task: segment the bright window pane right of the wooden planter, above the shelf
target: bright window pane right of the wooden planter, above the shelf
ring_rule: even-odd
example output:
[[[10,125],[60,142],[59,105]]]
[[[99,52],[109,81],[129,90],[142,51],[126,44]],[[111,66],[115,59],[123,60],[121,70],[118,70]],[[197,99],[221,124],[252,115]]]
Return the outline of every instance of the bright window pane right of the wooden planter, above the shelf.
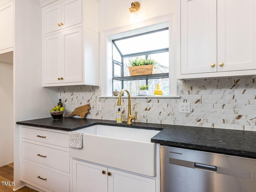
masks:
[[[152,58],[158,62],[155,73],[169,72],[169,52],[149,54],[148,58]]]

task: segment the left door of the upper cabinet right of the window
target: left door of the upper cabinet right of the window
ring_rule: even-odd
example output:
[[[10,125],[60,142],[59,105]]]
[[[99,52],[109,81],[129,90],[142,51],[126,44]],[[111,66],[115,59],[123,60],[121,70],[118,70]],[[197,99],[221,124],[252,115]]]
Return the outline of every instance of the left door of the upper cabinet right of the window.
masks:
[[[181,0],[181,74],[216,72],[216,0]]]

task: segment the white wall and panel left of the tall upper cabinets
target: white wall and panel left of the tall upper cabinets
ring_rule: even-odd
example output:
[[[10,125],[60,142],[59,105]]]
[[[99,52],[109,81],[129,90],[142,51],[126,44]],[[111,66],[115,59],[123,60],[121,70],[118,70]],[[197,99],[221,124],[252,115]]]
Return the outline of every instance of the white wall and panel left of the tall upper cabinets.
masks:
[[[42,10],[34,0],[14,0],[14,188],[20,181],[20,129],[17,121],[50,117],[56,88],[42,87]]]

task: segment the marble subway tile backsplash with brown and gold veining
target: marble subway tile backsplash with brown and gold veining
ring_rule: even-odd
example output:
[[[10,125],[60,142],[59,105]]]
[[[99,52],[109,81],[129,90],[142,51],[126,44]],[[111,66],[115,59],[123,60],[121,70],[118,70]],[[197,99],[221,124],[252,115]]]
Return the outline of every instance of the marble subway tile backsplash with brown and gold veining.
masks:
[[[180,98],[132,98],[136,122],[175,124],[256,131],[256,79],[220,78],[178,81]],[[90,103],[86,118],[116,120],[117,98],[99,98],[98,86],[64,86],[59,98],[68,116],[76,107]],[[101,102],[102,110],[96,109]],[[178,112],[180,102],[190,102],[191,113]],[[123,120],[127,120],[128,100],[122,99]]]

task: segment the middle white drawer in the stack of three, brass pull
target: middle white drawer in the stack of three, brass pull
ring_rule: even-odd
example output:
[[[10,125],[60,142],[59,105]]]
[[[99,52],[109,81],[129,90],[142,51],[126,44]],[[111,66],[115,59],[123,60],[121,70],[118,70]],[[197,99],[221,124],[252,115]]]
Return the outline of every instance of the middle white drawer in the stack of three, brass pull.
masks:
[[[69,153],[22,142],[22,158],[69,173]]]

